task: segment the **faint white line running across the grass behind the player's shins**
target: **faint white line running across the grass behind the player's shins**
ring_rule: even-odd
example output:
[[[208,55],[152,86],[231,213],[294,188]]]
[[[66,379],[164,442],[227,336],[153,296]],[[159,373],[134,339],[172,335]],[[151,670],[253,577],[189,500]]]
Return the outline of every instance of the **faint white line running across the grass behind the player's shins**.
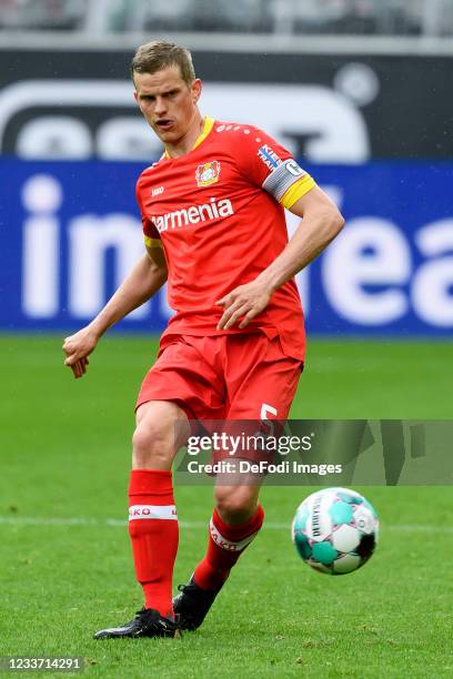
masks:
[[[33,516],[0,516],[0,525],[3,526],[111,526],[124,528],[128,525],[127,520],[107,518],[94,519],[84,517],[33,517]],[[208,529],[207,521],[184,521],[180,520],[181,528]],[[291,521],[264,521],[264,528],[268,530],[289,530]],[[435,533],[435,534],[453,534],[452,526],[429,526],[426,524],[393,524],[382,525],[381,528],[395,533]]]

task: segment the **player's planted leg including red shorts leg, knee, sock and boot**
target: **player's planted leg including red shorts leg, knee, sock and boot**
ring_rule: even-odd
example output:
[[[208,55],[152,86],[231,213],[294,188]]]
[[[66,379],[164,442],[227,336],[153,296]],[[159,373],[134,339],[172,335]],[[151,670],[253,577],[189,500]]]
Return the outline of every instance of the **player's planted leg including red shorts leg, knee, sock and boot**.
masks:
[[[223,413],[222,385],[208,359],[210,338],[202,342],[201,348],[192,346],[190,337],[161,342],[159,358],[142,383],[133,435],[129,530],[145,608],[129,625],[101,630],[97,638],[174,636],[168,618],[178,548],[171,464],[188,435],[188,415],[207,417],[207,403],[212,418]]]

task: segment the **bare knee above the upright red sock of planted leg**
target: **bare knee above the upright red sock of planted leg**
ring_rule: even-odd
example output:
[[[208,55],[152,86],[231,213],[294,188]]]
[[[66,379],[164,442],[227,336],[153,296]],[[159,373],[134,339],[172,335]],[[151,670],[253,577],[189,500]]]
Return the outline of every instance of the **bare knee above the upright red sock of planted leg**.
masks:
[[[174,445],[167,426],[141,422],[132,436],[132,466],[134,469],[170,469]]]

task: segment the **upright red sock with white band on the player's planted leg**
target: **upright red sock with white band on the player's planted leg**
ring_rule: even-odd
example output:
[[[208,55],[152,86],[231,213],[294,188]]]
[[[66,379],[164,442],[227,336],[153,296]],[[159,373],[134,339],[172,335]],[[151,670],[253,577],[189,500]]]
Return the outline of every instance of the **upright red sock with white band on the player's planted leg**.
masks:
[[[173,616],[172,576],[179,533],[171,472],[131,472],[129,535],[145,608]]]

